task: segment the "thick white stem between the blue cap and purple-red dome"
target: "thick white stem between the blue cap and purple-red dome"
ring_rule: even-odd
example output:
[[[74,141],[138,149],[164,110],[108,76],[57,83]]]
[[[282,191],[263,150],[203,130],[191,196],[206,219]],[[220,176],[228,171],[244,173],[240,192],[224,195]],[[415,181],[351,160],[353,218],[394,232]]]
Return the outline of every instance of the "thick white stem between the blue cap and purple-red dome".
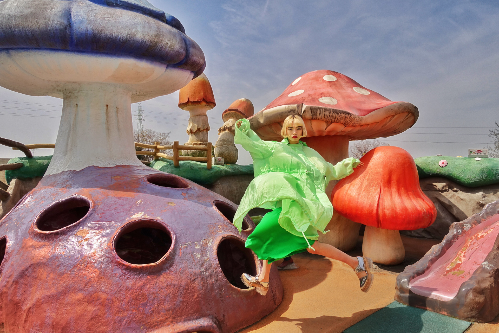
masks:
[[[135,155],[130,95],[119,84],[65,84],[54,155],[46,175],[90,165],[142,166]]]

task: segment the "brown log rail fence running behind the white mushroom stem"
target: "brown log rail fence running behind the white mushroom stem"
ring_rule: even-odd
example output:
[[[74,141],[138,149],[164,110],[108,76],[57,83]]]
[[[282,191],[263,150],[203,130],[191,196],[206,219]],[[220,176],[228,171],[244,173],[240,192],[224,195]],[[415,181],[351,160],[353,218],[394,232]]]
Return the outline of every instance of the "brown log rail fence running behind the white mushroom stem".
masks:
[[[207,142],[206,146],[184,146],[179,145],[178,141],[173,141],[173,144],[160,146],[161,142],[154,142],[153,145],[135,142],[135,147],[154,149],[154,151],[145,151],[145,150],[136,150],[136,155],[152,155],[154,159],[157,160],[160,157],[169,159],[173,161],[173,165],[175,167],[179,167],[179,161],[197,161],[197,162],[206,162],[206,168],[212,168],[212,143]],[[38,143],[38,144],[30,144],[25,145],[27,149],[39,149],[39,148],[55,148],[55,144],[53,143]],[[13,147],[12,149],[18,150],[19,148]],[[173,155],[167,155],[160,153],[160,150],[163,149],[172,149]],[[206,151],[206,157],[197,157],[197,156],[179,156],[179,150],[201,150]],[[142,161],[142,163],[149,165],[149,163]]]

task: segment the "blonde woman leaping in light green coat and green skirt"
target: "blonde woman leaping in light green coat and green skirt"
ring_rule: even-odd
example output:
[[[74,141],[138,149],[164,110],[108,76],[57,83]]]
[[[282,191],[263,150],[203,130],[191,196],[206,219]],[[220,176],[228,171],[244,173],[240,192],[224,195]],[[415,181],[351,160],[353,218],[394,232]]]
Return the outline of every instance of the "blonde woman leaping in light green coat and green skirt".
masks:
[[[354,258],[317,241],[317,231],[326,233],[324,228],[333,215],[333,206],[324,192],[327,184],[350,175],[353,168],[363,164],[350,157],[333,166],[300,141],[306,135],[303,119],[297,115],[284,120],[281,142],[262,141],[250,129],[248,119],[236,123],[234,142],[250,152],[255,178],[241,199],[234,224],[241,231],[243,218],[250,209],[272,209],[246,241],[246,247],[263,260],[261,272],[255,277],[245,273],[241,280],[265,295],[271,263],[306,250],[352,267],[361,290],[367,292],[373,281],[371,259]]]

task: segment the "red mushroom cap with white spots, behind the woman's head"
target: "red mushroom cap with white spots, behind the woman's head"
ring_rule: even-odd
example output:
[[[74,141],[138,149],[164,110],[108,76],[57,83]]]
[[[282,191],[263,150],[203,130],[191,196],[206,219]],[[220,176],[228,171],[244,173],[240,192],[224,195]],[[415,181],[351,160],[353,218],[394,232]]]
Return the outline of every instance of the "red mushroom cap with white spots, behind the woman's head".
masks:
[[[250,119],[264,140],[281,140],[282,122],[290,114],[305,121],[307,137],[347,135],[349,140],[399,134],[418,119],[418,108],[394,102],[332,70],[316,70],[295,79],[274,101]]]

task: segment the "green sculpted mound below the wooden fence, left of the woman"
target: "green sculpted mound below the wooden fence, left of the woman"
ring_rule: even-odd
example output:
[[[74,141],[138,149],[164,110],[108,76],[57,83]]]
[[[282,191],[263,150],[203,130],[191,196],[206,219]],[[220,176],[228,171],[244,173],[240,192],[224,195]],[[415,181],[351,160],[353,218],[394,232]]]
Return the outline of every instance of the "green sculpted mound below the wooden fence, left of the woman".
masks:
[[[211,170],[206,168],[206,163],[194,161],[180,161],[178,168],[173,166],[173,161],[160,158],[151,162],[150,167],[192,180],[200,185],[213,184],[223,176],[252,175],[253,165],[225,164],[212,165]]]

